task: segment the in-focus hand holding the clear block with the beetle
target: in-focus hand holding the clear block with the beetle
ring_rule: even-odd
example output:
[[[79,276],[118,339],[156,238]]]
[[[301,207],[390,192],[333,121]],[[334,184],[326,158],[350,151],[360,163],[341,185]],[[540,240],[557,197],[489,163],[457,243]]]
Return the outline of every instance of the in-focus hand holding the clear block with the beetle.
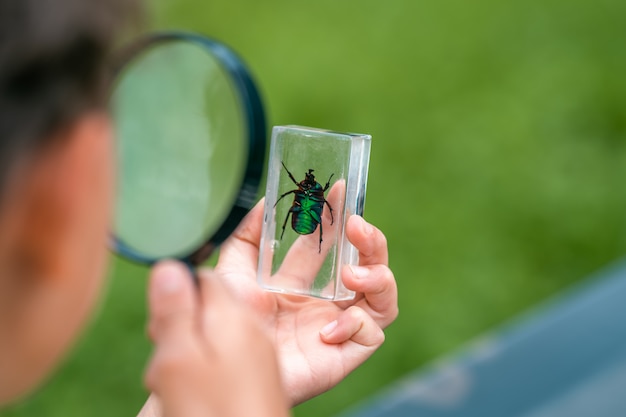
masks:
[[[345,267],[342,277],[357,292],[355,300],[332,303],[265,292],[256,283],[262,216],[263,201],[222,246],[215,272],[265,320],[295,405],[336,385],[383,343],[382,329],[398,314],[396,282],[387,266],[385,236],[352,216],[346,233],[359,250],[360,266]],[[302,270],[308,260],[303,256],[292,263]]]

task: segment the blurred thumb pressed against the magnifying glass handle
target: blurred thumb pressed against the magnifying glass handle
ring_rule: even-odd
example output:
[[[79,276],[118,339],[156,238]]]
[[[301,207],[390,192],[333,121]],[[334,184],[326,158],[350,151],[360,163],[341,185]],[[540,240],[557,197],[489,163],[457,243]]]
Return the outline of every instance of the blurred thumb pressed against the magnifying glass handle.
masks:
[[[149,333],[157,345],[192,342],[198,326],[198,295],[187,267],[179,262],[157,264],[148,289]]]

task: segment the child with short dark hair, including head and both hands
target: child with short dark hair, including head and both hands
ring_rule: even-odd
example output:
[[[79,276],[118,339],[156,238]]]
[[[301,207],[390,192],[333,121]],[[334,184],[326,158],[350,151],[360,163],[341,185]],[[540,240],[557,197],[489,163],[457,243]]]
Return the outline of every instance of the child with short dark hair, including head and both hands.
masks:
[[[0,406],[37,386],[101,289],[112,205],[106,66],[129,0],[0,0]],[[285,297],[255,283],[262,206],[225,243],[199,294],[176,262],[150,279],[144,416],[286,416],[383,342],[397,290],[380,231],[347,234],[361,266],[349,303]]]

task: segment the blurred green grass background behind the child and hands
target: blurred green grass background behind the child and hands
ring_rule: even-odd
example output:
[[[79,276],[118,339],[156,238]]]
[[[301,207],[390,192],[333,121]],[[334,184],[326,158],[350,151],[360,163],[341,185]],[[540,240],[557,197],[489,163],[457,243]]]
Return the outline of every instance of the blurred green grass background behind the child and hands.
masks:
[[[389,240],[387,342],[295,410],[333,415],[626,251],[626,2],[160,0],[154,28],[227,42],[271,125],[374,137],[366,217]],[[133,415],[146,271],[113,262],[100,314],[8,416]]]

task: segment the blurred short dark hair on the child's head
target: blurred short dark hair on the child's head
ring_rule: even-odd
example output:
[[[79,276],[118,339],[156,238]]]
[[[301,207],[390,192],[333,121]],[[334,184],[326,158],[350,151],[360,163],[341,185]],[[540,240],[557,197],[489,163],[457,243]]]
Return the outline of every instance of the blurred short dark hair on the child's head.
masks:
[[[14,162],[105,106],[114,42],[132,0],[0,0],[0,189]]]

